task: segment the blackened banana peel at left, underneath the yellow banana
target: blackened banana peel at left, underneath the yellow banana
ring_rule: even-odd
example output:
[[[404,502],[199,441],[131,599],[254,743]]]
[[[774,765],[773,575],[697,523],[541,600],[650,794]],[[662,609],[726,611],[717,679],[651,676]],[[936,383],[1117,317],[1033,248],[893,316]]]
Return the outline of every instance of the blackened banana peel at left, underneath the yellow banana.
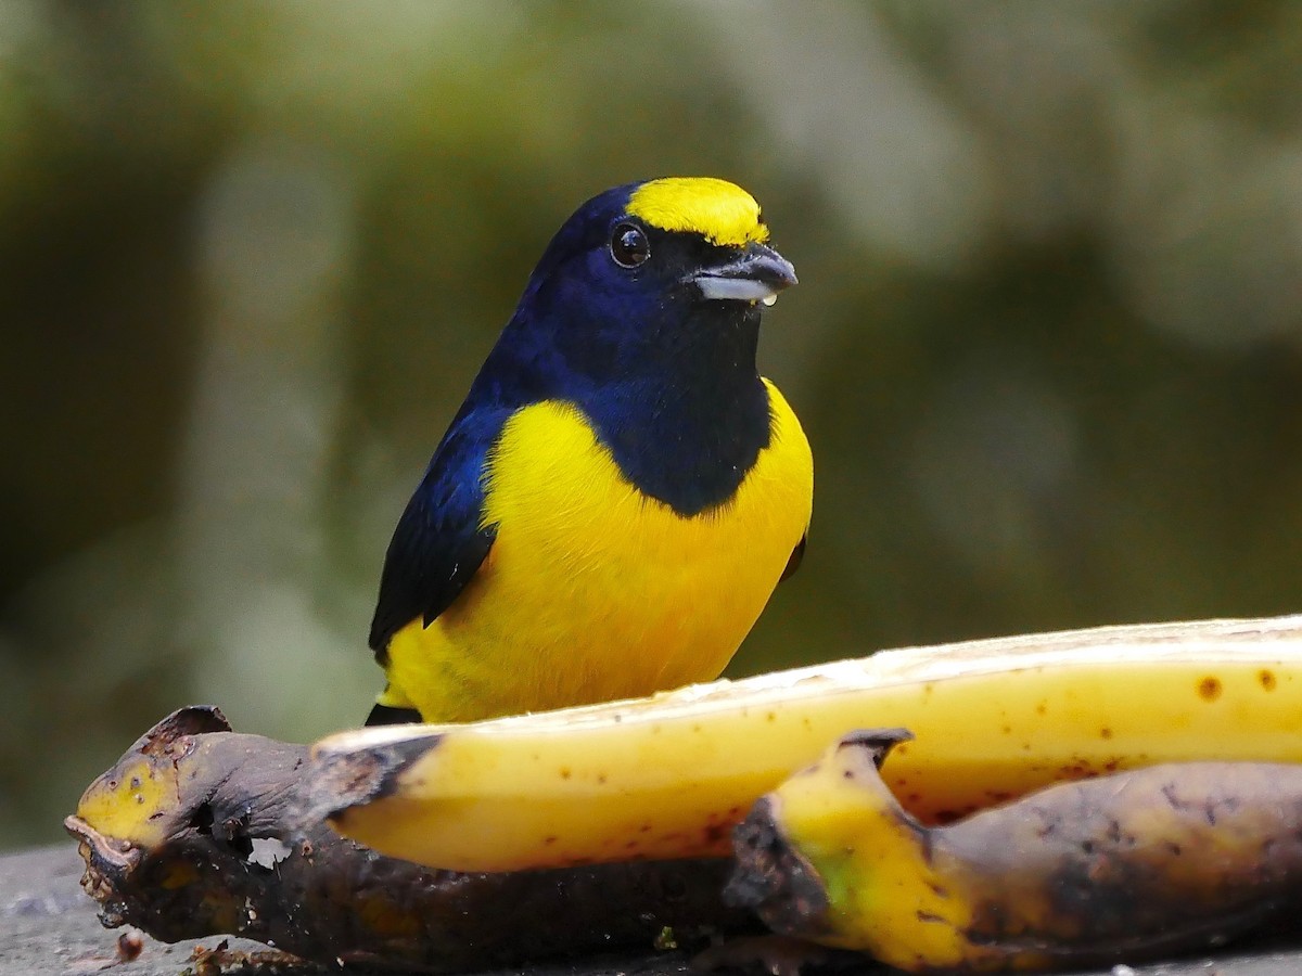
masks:
[[[164,942],[253,938],[326,964],[454,972],[754,930],[719,898],[727,860],[470,874],[341,839],[306,813],[307,747],[184,708],[66,821],[107,927]]]

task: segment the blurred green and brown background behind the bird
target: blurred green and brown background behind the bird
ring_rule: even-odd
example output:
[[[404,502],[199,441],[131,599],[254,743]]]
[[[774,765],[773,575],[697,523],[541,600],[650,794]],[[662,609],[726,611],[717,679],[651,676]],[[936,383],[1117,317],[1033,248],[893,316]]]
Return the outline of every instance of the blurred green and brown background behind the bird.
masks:
[[[1302,5],[0,4],[0,846],[154,721],[366,714],[565,216],[717,174],[818,465],[733,673],[1302,608]]]

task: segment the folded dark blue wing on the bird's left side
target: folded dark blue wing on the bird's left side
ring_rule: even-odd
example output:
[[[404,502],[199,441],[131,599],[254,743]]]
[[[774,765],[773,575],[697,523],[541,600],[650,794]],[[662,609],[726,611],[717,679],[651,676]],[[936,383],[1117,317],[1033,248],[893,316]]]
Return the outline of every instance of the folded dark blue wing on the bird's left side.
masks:
[[[389,639],[418,617],[428,626],[457,599],[496,537],[482,528],[483,467],[509,410],[458,415],[393,531],[370,645],[387,662]]]

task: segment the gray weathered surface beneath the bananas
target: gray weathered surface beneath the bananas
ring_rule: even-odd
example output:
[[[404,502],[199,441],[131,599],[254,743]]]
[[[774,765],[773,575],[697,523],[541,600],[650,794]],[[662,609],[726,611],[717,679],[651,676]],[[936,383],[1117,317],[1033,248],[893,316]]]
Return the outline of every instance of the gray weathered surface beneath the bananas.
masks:
[[[0,976],[178,976],[191,968],[195,946],[214,947],[221,940],[202,938],[176,945],[143,940],[143,950],[130,962],[120,962],[121,929],[99,924],[95,903],[81,890],[81,859],[72,845],[43,847],[0,856]],[[230,949],[255,951],[256,942],[230,940]],[[865,963],[863,971],[876,967]],[[227,973],[272,972],[266,968],[227,969]],[[279,967],[275,972],[286,972]],[[370,972],[357,967],[323,969],[294,967],[293,973],[340,976]],[[525,973],[526,971],[512,971]],[[686,972],[682,955],[665,953],[638,958],[600,959],[583,963],[536,967],[527,976],[678,976]],[[1124,973],[1125,969],[1117,971]],[[1134,967],[1135,976],[1299,976],[1302,950],[1294,940],[1286,945],[1246,946],[1234,954],[1193,958],[1174,963]],[[1109,976],[1105,971],[1094,976]]]

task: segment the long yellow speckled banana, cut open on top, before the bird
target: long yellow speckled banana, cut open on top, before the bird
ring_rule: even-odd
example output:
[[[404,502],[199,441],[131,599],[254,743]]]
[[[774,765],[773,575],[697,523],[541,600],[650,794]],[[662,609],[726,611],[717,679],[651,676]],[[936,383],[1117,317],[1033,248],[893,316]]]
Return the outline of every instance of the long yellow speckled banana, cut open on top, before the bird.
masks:
[[[1116,769],[1302,761],[1302,617],[884,651],[634,701],[342,733],[314,748],[314,811],[457,871],[727,856],[756,798],[868,726],[918,735],[883,776],[928,824]]]

